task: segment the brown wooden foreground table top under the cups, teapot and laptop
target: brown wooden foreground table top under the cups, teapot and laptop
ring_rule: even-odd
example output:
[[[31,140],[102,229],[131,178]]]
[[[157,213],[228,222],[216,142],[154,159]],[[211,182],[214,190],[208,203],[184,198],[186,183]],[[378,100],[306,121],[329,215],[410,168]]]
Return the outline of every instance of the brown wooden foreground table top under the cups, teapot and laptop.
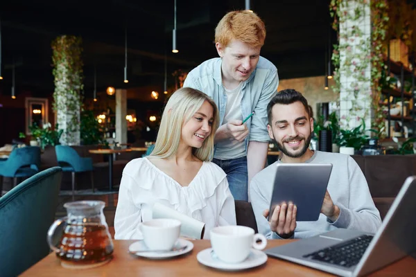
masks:
[[[193,250],[183,256],[169,260],[148,260],[128,253],[128,246],[134,240],[114,240],[114,258],[108,264],[94,269],[65,269],[55,253],[49,254],[36,265],[26,270],[22,276],[331,276],[330,274],[303,267],[284,260],[268,258],[266,264],[247,271],[227,272],[201,265],[196,255],[211,247],[209,240],[193,240]],[[269,240],[268,247],[276,247],[290,240]],[[416,261],[406,257],[372,276],[414,276]],[[410,275],[409,275],[410,274]]]

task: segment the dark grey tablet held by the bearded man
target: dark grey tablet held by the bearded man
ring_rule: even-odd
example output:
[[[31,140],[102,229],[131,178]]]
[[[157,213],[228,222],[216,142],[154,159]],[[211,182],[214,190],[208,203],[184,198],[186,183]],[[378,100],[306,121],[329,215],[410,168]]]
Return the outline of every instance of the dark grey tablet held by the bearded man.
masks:
[[[269,220],[283,202],[297,206],[296,221],[318,220],[331,170],[331,163],[278,163]]]

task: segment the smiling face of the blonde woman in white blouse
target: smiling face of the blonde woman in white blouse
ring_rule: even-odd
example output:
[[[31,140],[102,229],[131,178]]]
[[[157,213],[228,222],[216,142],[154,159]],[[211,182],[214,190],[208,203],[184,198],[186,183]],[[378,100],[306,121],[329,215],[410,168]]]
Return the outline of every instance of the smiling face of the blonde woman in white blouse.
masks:
[[[180,143],[193,148],[201,148],[202,143],[211,134],[214,108],[204,101],[191,119],[182,125]]]

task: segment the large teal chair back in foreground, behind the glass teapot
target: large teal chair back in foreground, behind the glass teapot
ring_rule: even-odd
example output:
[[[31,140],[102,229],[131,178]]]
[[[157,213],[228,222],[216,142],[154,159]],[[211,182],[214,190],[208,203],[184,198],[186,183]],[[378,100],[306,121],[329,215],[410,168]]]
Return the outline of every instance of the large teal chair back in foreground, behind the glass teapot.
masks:
[[[17,276],[49,254],[62,168],[46,169],[0,197],[0,276]]]

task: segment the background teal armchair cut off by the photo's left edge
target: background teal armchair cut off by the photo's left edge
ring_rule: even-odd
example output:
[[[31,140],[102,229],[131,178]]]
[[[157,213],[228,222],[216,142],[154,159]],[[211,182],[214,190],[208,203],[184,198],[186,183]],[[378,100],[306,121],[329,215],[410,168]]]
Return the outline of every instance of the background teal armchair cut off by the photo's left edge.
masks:
[[[0,195],[3,188],[1,177],[13,178],[13,186],[18,177],[31,177],[39,172],[40,148],[35,146],[15,148],[8,159],[0,161]]]

